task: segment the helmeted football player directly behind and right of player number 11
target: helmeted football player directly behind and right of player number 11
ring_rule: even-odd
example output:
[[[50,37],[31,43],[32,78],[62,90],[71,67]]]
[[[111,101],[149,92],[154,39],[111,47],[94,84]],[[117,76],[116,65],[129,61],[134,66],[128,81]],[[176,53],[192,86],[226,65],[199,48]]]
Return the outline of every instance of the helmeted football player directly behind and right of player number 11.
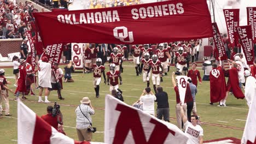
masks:
[[[162,74],[165,73],[165,75],[167,75],[167,68],[168,68],[167,63],[170,64],[171,56],[170,56],[170,53],[168,52],[168,50],[164,49],[164,44],[159,44],[158,47],[159,47],[159,49],[155,50],[155,53],[158,56],[158,59],[161,62],[162,67],[164,68],[164,69],[160,69],[160,79],[162,82],[163,81]],[[169,59],[168,62],[167,62],[167,59]]]

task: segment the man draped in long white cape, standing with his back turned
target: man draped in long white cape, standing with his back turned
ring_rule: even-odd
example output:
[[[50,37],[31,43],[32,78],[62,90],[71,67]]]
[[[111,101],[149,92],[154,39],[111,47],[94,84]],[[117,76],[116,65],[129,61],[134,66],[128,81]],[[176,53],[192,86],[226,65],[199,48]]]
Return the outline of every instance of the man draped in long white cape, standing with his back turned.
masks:
[[[38,102],[45,102],[45,103],[50,103],[48,100],[48,95],[49,95],[49,89],[51,88],[51,64],[48,63],[48,58],[47,57],[42,57],[38,61],[38,84],[40,87],[39,91],[39,100]],[[44,95],[45,95],[45,101],[42,100],[42,94],[44,90]]]

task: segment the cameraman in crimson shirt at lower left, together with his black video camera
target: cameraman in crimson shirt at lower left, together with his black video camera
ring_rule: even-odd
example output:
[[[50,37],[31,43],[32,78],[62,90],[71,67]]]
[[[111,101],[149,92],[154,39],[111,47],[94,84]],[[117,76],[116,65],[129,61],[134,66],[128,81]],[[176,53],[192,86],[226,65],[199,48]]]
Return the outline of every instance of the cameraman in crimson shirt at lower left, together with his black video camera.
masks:
[[[51,126],[53,126],[56,130],[58,130],[58,124],[60,124],[60,125],[63,124],[60,106],[57,105],[55,102],[54,107],[49,105],[49,106],[47,106],[46,110],[47,110],[47,114],[41,116],[41,118],[44,119],[45,122],[47,122]]]

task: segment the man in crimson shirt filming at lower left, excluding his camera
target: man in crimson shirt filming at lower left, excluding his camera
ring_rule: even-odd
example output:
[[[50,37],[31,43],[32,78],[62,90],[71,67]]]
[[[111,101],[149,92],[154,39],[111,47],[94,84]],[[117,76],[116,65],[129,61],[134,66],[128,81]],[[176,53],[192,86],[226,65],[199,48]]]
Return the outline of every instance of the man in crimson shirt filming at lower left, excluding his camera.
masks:
[[[58,124],[62,123],[62,113],[59,112],[57,116],[53,116],[53,106],[49,105],[47,106],[47,114],[41,116],[42,119],[44,119],[45,122],[50,124],[52,127],[54,127],[56,130],[58,130]]]

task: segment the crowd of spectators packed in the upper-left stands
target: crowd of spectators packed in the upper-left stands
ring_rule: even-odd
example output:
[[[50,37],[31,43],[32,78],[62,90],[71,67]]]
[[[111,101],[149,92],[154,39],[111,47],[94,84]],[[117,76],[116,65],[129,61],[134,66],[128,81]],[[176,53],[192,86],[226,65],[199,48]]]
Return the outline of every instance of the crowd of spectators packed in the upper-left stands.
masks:
[[[13,3],[0,0],[0,38],[13,39],[24,37],[25,31],[36,31],[32,13],[38,12],[32,2]]]

